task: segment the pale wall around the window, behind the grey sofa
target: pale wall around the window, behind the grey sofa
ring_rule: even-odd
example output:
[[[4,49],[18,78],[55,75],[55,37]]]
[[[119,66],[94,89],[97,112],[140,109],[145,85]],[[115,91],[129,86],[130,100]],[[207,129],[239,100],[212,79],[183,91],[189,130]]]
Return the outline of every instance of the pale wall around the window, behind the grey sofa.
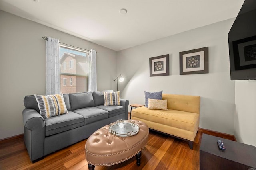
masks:
[[[45,94],[43,36],[95,49],[98,90],[116,88],[116,51],[0,10],[0,139],[23,133],[24,96]]]

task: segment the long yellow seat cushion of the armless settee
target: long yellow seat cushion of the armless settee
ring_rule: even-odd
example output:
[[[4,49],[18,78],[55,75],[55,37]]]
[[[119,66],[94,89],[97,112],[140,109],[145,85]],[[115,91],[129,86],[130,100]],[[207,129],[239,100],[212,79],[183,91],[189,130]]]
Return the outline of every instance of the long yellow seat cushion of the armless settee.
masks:
[[[179,110],[148,110],[146,107],[138,107],[132,110],[132,116],[156,122],[162,125],[194,131],[199,121],[199,114]]]

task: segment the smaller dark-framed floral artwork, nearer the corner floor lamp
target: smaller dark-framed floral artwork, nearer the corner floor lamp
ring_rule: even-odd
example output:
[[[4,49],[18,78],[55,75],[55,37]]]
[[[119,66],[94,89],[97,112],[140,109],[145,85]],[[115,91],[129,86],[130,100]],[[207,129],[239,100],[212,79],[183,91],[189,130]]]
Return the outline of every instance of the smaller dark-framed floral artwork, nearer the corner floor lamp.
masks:
[[[149,76],[169,76],[169,54],[149,58]]]

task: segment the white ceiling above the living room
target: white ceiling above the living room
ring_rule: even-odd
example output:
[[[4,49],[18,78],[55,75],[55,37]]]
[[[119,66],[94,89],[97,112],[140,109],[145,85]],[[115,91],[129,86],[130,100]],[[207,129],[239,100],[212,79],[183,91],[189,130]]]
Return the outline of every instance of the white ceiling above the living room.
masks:
[[[234,18],[243,2],[244,0],[0,0],[0,10],[120,51]],[[120,14],[121,8],[128,12]]]

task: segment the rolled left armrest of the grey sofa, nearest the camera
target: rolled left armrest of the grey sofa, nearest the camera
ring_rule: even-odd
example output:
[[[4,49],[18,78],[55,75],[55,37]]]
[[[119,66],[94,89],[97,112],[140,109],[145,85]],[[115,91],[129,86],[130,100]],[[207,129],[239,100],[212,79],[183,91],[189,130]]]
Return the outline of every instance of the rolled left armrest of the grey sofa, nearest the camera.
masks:
[[[35,109],[24,109],[24,142],[32,162],[44,156],[45,122]]]

